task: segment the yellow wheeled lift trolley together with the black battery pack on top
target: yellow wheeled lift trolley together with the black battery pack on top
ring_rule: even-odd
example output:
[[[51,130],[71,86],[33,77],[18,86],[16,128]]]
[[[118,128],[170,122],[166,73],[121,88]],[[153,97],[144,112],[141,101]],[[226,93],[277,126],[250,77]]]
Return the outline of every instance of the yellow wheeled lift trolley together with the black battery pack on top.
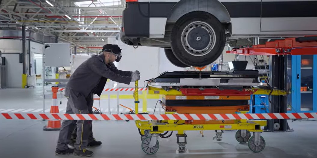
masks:
[[[148,83],[148,93],[163,94],[161,106],[165,114],[237,114],[249,111],[250,95],[256,92],[253,86],[263,86],[256,70],[235,70],[228,72],[165,72]],[[136,82],[138,87],[138,82]],[[136,113],[138,113],[138,95]],[[186,115],[191,118],[191,115]],[[211,117],[212,118],[212,117]],[[188,152],[185,131],[214,130],[217,141],[222,140],[224,130],[237,130],[235,138],[240,143],[248,143],[253,152],[265,148],[261,136],[266,120],[152,120],[136,121],[141,135],[142,150],[154,154],[159,149],[158,138],[168,138],[177,131],[178,153]],[[251,132],[253,135],[251,135]]]

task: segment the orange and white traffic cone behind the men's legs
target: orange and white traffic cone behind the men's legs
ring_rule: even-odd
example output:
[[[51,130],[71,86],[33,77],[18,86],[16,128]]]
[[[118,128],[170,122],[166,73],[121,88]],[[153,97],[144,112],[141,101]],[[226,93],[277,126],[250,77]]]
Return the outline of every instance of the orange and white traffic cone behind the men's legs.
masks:
[[[52,86],[53,105],[51,106],[51,110],[50,110],[51,114],[59,113],[58,104],[57,104],[57,91],[58,91],[58,87]],[[59,131],[60,129],[61,129],[60,120],[55,120],[55,121],[49,120],[48,125],[44,126],[43,128],[44,131]]]

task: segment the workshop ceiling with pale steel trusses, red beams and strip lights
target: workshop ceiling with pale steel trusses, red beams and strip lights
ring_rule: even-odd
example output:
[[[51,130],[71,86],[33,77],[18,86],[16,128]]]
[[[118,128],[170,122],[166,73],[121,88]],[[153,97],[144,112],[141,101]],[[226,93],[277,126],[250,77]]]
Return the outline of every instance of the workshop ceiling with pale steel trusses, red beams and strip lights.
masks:
[[[21,25],[78,48],[102,46],[120,32],[125,0],[0,0],[0,29]]]

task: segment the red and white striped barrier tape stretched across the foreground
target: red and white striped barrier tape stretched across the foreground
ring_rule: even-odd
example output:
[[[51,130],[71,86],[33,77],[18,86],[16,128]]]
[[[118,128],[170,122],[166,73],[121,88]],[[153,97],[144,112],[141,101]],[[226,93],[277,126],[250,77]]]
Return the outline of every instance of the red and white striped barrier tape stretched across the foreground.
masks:
[[[20,120],[268,120],[268,119],[312,119],[317,113],[269,113],[269,114],[36,114],[0,113],[1,119]]]

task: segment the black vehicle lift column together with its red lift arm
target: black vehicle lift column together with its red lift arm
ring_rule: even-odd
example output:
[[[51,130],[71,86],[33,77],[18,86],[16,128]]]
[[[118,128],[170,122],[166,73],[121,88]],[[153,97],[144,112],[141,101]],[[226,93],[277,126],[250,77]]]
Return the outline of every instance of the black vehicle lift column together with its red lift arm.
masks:
[[[227,51],[229,54],[239,55],[267,55],[270,56],[269,85],[272,89],[286,90],[287,83],[287,55],[316,55],[317,36],[285,38],[255,44],[252,47],[238,48]],[[287,96],[270,95],[270,113],[287,113]],[[291,130],[286,119],[268,121],[264,128],[268,132],[289,132]]]

